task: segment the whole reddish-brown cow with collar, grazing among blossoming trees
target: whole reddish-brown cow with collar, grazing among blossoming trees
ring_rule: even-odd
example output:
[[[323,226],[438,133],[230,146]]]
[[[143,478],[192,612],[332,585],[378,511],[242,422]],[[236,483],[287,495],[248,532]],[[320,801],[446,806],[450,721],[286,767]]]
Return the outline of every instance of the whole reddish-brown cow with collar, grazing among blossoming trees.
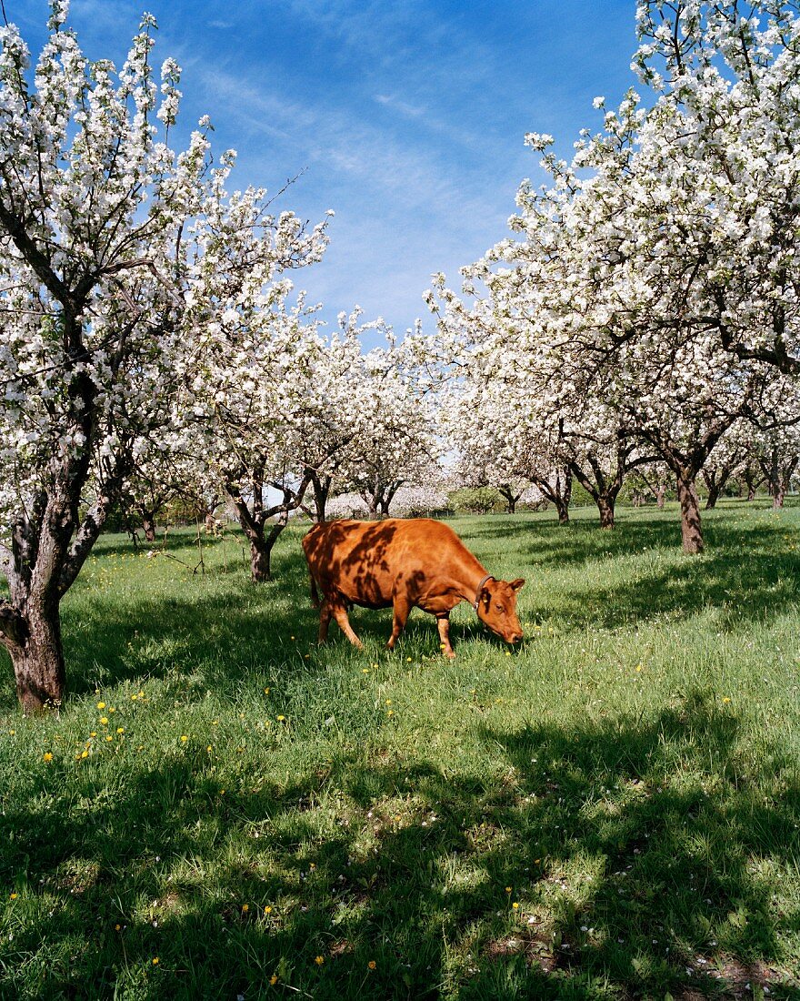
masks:
[[[518,643],[517,592],[524,581],[496,581],[448,526],[427,518],[385,522],[328,522],[316,525],[303,540],[311,574],[311,598],[320,607],[319,642],[328,636],[333,617],[356,647],[347,610],[392,606],[394,650],[411,609],[436,616],[442,651],[455,657],[450,645],[450,612],[469,602],[478,618],[506,643]],[[317,589],[322,592],[320,605]]]

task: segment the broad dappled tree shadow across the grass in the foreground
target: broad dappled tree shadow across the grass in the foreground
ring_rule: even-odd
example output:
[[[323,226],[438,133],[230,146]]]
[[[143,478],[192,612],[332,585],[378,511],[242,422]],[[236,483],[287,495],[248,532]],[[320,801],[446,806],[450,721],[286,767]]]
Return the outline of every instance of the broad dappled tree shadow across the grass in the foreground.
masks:
[[[272,976],[321,999],[798,996],[779,748],[753,764],[702,692],[645,722],[475,736],[479,774],[344,751],[280,782],[256,757],[224,795],[201,748],[113,796],[90,761],[66,827],[53,773],[31,778],[0,815],[27,907],[0,993],[44,953],[21,996],[250,999]]]

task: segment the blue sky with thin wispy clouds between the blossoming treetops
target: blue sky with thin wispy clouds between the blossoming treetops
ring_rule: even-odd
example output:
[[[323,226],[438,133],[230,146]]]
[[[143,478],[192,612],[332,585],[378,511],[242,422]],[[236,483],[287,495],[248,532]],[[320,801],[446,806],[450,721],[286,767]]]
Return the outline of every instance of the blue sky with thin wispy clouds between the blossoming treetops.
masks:
[[[37,50],[45,0],[5,0]],[[235,186],[277,190],[312,222],[332,208],[325,260],[295,275],[323,315],[356,303],[402,332],[430,327],[430,274],[507,233],[523,177],[541,180],[526,132],[569,156],[599,128],[598,94],[634,83],[635,0],[72,0],[91,58],[120,65],[142,10],[156,59],[183,67],[182,127],[202,114],[233,147]]]

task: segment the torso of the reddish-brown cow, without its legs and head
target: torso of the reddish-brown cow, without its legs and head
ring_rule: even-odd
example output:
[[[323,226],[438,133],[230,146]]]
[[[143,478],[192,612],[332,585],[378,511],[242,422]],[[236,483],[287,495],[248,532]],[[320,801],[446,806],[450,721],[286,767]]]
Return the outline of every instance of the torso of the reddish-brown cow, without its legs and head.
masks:
[[[425,518],[328,522],[311,529],[303,549],[327,599],[369,608],[391,605],[398,580],[426,593],[454,567],[480,566],[452,529]]]

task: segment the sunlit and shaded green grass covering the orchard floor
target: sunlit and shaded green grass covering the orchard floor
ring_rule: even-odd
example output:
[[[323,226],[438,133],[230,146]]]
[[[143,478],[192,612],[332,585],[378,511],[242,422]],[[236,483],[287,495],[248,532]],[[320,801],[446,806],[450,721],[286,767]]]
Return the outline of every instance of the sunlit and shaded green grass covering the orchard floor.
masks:
[[[3,655],[0,997],[800,997],[800,509],[552,519],[452,523],[528,580],[453,663],[317,649],[299,529],[103,538],[60,717]]]

